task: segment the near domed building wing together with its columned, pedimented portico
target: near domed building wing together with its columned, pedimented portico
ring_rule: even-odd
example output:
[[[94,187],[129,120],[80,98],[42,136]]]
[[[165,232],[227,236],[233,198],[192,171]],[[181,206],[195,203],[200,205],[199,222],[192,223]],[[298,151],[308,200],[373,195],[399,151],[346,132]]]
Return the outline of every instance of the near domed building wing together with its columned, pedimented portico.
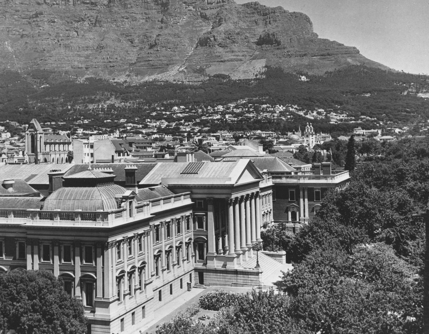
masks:
[[[251,246],[272,219],[272,183],[250,160],[148,164],[141,182],[115,164],[121,185],[112,168],[63,166],[46,197],[0,192],[0,271],[62,278],[90,333],[137,331],[188,283],[260,284]]]

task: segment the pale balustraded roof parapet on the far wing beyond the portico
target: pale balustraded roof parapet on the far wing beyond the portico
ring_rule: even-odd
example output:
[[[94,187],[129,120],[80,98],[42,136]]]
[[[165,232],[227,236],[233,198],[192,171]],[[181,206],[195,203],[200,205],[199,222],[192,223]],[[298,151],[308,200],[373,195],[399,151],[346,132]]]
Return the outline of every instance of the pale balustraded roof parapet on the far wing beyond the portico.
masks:
[[[273,183],[340,183],[350,178],[348,171],[332,171],[330,175],[315,175],[304,171],[295,175],[272,175]]]

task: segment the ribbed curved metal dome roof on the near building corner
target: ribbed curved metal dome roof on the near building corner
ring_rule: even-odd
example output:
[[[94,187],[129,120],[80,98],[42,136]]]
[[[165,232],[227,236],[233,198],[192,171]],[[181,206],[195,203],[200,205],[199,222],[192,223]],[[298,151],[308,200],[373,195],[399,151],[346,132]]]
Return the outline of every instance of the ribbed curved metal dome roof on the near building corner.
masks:
[[[113,183],[95,187],[63,187],[46,198],[43,210],[116,210],[117,198],[126,191]]]

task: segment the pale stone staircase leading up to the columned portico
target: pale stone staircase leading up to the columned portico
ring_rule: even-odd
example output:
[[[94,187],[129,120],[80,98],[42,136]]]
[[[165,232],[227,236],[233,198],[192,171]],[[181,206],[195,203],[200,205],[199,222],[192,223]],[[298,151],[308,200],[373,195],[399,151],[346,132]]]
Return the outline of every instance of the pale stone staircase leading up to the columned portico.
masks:
[[[281,281],[283,272],[291,270],[293,267],[291,264],[282,264],[272,259],[266,254],[259,252],[259,265],[262,269],[262,277],[260,280],[260,286],[262,288],[277,288],[275,282]],[[254,257],[243,263],[241,268],[255,268],[256,266],[256,254]]]

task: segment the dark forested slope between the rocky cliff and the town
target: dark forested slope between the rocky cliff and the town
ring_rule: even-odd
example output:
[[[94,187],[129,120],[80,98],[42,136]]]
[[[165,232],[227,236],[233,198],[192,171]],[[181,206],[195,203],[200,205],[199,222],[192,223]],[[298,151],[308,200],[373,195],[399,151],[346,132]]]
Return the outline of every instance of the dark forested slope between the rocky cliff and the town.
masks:
[[[304,75],[306,80],[302,80]],[[175,105],[214,106],[240,99],[248,103],[296,105],[307,110],[344,112],[350,119],[374,118],[372,123],[392,125],[425,123],[429,101],[418,93],[429,91],[429,79],[365,66],[349,66],[324,75],[284,73],[266,67],[255,80],[231,80],[214,76],[202,83],[145,82],[138,85],[87,78],[76,81],[66,74],[35,70],[25,74],[4,71],[0,75],[0,119],[26,123],[87,118],[94,121],[136,117]],[[408,93],[408,94],[407,94]],[[286,122],[302,123],[295,115],[287,121],[263,123],[266,130],[284,130]],[[330,119],[313,121],[316,130],[332,130]],[[207,122],[208,123],[208,122]],[[213,124],[245,130],[257,124]],[[199,124],[205,126],[207,124]]]

